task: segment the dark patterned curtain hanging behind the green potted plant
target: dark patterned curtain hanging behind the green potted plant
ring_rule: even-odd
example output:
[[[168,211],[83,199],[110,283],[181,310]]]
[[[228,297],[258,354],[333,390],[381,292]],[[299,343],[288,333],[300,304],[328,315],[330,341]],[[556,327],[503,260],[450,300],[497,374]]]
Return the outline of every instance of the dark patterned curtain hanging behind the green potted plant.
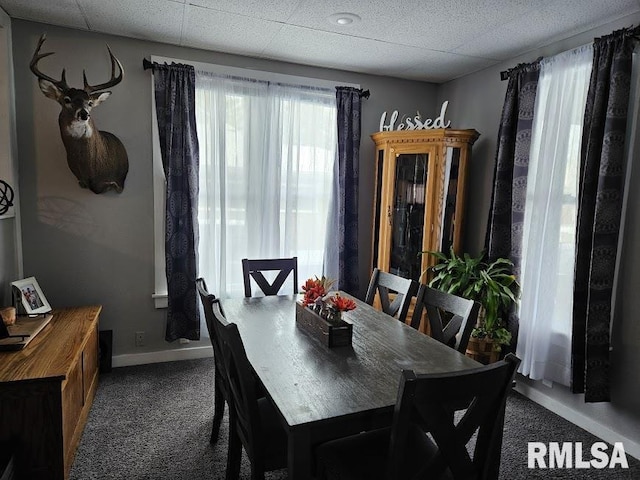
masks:
[[[514,274],[519,278],[529,149],[540,59],[517,65],[507,74],[509,84],[498,130],[485,249],[490,260],[510,259],[515,266]],[[511,312],[507,329],[511,332],[512,345],[505,352],[515,350],[518,324],[515,311]]]

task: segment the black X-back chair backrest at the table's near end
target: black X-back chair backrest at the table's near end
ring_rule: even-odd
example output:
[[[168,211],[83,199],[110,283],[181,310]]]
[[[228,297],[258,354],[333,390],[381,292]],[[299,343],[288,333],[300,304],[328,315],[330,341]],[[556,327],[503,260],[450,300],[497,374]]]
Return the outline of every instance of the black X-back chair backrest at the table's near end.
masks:
[[[394,410],[387,478],[494,480],[500,469],[504,410],[520,359],[442,374],[403,370]],[[451,405],[468,405],[457,422]],[[467,443],[477,432],[473,454]],[[430,434],[431,438],[427,436]],[[429,451],[407,458],[410,446]]]

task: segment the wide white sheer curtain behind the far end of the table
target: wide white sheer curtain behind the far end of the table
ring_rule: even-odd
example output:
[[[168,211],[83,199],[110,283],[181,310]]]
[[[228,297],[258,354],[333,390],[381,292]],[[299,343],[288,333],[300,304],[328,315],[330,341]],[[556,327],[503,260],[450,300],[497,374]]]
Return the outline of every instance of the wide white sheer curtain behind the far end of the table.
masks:
[[[298,257],[322,273],[336,149],[335,92],[196,72],[199,275],[242,296],[242,258]],[[290,291],[291,286],[285,285]]]

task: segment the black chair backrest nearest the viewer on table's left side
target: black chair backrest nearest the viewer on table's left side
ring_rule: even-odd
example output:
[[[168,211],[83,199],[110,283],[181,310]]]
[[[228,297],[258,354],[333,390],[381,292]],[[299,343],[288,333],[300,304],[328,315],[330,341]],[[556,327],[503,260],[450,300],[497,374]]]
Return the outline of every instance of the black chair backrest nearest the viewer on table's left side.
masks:
[[[231,415],[236,421],[237,433],[247,456],[253,462],[260,452],[265,451],[266,441],[261,426],[255,375],[238,326],[228,323],[221,326],[219,333],[227,383],[231,391]]]

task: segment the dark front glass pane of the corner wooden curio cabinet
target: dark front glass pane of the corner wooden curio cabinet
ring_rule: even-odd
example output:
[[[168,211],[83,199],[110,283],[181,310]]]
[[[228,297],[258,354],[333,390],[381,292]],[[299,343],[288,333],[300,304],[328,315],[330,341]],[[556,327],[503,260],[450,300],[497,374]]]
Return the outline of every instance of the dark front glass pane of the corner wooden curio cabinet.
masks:
[[[389,272],[420,280],[424,232],[428,153],[399,154],[395,163],[395,183],[391,217]]]

